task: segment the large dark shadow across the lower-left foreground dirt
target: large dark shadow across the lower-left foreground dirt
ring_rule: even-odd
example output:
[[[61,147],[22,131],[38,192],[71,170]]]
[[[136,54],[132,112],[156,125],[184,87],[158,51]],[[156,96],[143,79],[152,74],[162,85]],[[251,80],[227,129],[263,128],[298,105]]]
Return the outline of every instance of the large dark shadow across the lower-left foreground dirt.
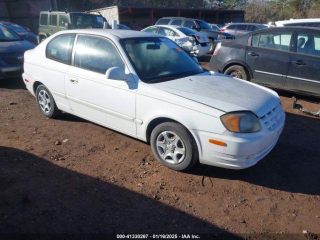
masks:
[[[5,146],[0,146],[0,165],[1,234],[104,233],[104,239],[110,239],[119,233],[218,233],[223,239],[238,239],[159,200],[112,184],[107,170],[99,179]]]

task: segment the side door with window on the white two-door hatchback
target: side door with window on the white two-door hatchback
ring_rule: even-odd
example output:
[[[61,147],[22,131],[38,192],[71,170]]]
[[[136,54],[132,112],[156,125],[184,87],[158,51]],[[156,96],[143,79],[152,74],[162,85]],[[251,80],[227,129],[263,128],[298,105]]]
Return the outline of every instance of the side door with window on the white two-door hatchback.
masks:
[[[104,38],[79,34],[64,87],[70,108],[77,115],[125,134],[136,136],[135,92],[137,85],[114,44]],[[123,67],[128,80],[113,80],[105,72]]]

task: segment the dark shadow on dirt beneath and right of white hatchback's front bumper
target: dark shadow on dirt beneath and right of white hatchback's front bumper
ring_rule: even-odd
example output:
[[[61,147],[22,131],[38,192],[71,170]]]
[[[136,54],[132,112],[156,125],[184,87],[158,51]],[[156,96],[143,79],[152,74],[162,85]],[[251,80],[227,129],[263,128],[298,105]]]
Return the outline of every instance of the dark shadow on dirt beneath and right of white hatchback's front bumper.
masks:
[[[242,170],[198,165],[189,173],[319,195],[320,120],[286,112],[285,121],[277,144],[256,165]]]

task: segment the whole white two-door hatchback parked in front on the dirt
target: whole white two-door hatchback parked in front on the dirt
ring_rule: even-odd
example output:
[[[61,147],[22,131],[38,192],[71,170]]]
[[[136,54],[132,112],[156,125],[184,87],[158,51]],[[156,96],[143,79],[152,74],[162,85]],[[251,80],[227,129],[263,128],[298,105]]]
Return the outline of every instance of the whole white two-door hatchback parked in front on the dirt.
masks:
[[[64,111],[150,142],[174,170],[254,165],[284,125],[273,90],[208,71],[158,34],[59,31],[26,51],[23,67],[45,116]]]

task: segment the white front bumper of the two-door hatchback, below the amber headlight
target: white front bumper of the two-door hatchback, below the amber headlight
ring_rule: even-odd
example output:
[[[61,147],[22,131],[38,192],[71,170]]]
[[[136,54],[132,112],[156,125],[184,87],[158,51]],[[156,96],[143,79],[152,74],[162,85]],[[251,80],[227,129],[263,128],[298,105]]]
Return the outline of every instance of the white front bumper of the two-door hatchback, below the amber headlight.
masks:
[[[201,149],[200,163],[230,169],[242,169],[256,164],[272,150],[282,132],[285,114],[281,110],[281,120],[272,130],[261,119],[261,129],[253,133],[225,131],[223,134],[215,134],[195,130]],[[208,142],[208,139],[224,141],[227,145],[215,145]]]

